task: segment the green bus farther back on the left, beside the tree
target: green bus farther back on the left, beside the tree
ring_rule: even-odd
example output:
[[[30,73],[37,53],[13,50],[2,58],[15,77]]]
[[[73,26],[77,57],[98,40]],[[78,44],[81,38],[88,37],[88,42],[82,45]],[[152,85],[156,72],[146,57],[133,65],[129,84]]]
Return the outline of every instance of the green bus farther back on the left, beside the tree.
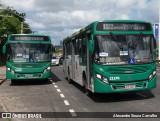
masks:
[[[3,47],[6,53],[6,78],[23,81],[51,76],[51,39],[45,35],[12,34]]]

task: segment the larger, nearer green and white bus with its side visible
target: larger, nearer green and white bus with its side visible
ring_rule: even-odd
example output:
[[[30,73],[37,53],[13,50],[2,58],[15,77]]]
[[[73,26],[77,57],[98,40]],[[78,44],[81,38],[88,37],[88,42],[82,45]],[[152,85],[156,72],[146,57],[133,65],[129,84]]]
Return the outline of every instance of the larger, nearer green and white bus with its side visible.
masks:
[[[69,83],[87,93],[116,93],[156,87],[156,41],[141,20],[96,21],[63,41],[63,70]]]

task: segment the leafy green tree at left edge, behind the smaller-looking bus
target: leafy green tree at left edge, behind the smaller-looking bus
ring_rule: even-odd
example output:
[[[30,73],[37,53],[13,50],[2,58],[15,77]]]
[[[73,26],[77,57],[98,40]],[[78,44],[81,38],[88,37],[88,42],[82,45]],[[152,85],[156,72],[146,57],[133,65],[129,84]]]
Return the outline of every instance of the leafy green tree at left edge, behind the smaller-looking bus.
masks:
[[[4,64],[2,56],[2,47],[9,34],[21,33],[21,24],[23,22],[23,33],[31,33],[29,25],[25,22],[25,13],[18,13],[16,10],[1,4],[0,2],[0,65]]]

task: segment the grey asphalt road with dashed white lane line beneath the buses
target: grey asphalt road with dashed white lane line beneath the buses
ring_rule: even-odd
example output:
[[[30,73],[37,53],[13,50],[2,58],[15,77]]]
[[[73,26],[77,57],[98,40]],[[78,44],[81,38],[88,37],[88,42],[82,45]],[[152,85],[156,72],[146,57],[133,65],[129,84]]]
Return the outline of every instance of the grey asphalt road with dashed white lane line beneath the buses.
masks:
[[[11,85],[10,81],[6,80],[0,86],[0,100],[5,111],[49,112],[42,114],[42,117],[50,115],[52,118],[43,118],[42,121],[159,120],[158,118],[102,118],[101,116],[113,114],[101,115],[102,113],[95,112],[132,112],[133,114],[136,112],[160,112],[160,68],[157,68],[157,88],[152,91],[96,94],[94,96],[87,96],[83,93],[83,88],[76,83],[68,84],[61,66],[52,66],[52,72],[52,79],[48,82],[23,81]],[[39,120],[11,119],[11,121]]]

